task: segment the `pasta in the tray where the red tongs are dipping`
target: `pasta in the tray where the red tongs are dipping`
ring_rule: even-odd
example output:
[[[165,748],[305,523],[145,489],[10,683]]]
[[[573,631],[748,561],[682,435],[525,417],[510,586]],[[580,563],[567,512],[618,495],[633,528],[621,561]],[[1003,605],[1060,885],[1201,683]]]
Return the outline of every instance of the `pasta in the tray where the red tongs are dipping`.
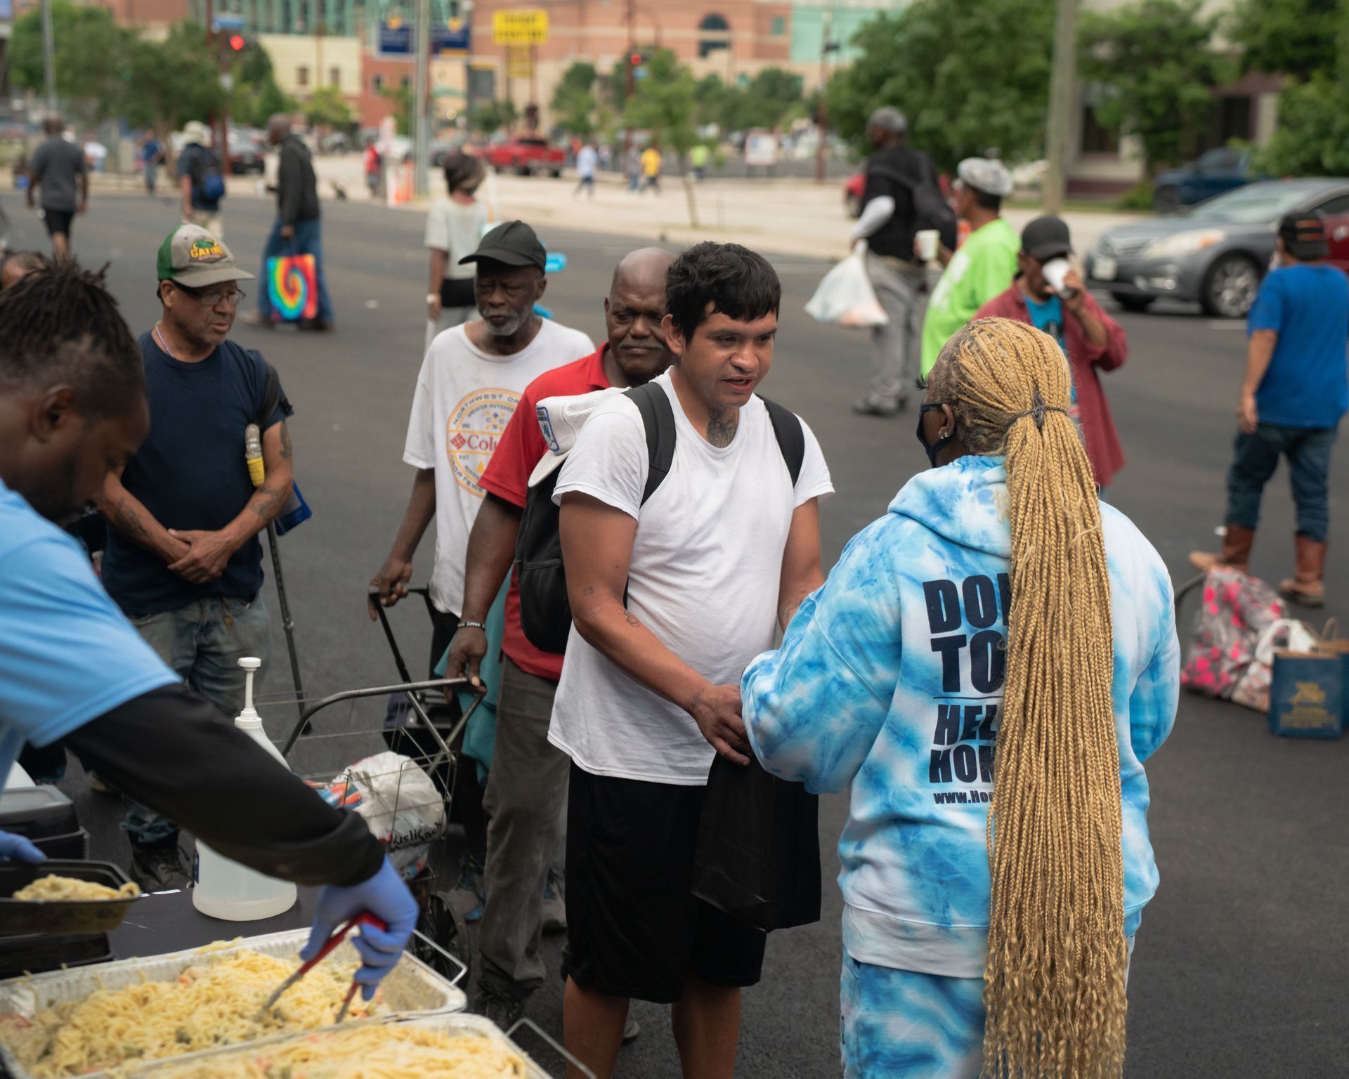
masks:
[[[258,1010],[298,966],[251,950],[204,955],[175,981],[100,989],[32,1020],[0,1016],[0,1037],[38,1079],[61,1079],[125,1061],[236,1045],[312,1030],[336,1017],[355,963],[320,963],[259,1017]],[[359,994],[351,1018],[378,1010]]]

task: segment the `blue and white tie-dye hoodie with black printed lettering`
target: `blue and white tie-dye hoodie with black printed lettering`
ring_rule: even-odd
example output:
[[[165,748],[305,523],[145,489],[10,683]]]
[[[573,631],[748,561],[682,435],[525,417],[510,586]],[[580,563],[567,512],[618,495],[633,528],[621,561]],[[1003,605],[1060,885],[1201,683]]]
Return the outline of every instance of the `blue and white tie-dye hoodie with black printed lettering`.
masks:
[[[861,963],[983,974],[1005,496],[1001,457],[915,476],[801,604],[782,647],[745,672],[745,726],[764,767],[817,793],[853,784],[839,887],[843,947]],[[1143,762],[1171,732],[1179,645],[1161,558],[1126,517],[1105,504],[1101,517],[1132,936],[1157,887]]]

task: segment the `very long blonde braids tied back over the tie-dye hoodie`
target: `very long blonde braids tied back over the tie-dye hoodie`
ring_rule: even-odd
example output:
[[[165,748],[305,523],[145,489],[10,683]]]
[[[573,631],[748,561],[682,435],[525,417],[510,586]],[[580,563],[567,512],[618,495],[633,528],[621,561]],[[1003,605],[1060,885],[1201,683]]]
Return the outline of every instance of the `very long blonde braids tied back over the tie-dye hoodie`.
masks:
[[[1101,507],[1050,336],[971,322],[932,372],[978,455],[1005,455],[1012,608],[989,815],[987,1079],[1124,1072],[1120,747]]]

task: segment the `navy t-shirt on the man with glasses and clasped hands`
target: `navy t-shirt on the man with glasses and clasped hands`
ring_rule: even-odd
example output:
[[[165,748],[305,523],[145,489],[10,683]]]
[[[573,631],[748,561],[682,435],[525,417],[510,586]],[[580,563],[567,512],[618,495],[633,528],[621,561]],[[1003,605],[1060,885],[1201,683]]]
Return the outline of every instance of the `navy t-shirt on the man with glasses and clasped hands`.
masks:
[[[244,428],[258,422],[267,391],[263,357],[225,341],[200,363],[183,363],[140,334],[150,399],[150,434],[127,461],[121,486],[166,529],[225,527],[254,495],[244,463]],[[290,415],[277,406],[264,430]],[[255,535],[233,553],[225,572],[193,584],[158,554],[108,529],[103,584],[131,616],[174,611],[210,596],[248,599],[262,588],[262,544]]]

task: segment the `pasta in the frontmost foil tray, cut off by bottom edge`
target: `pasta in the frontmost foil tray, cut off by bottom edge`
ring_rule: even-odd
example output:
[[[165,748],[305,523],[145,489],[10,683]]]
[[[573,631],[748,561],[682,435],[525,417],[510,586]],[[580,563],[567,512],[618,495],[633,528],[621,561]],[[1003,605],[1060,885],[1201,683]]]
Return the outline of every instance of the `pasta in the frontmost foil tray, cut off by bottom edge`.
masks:
[[[525,1061],[482,1034],[366,1026],[185,1063],[155,1079],[523,1079]]]

